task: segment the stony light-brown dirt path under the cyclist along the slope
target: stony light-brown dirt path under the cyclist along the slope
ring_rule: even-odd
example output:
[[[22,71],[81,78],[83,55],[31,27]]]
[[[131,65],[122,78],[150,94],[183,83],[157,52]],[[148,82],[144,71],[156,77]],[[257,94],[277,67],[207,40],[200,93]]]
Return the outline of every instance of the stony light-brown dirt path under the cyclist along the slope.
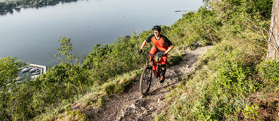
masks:
[[[104,107],[95,115],[91,115],[92,121],[150,121],[154,120],[157,113],[166,105],[162,104],[166,96],[174,89],[184,75],[193,72],[198,58],[207,51],[206,47],[198,47],[194,50],[185,50],[182,62],[179,65],[167,68],[165,82],[160,84],[159,78],[153,78],[151,89],[147,96],[140,97],[139,80],[132,82],[130,88],[123,94],[114,94],[112,98],[105,101]],[[169,88],[168,88],[169,87]],[[135,105],[135,102],[139,101]],[[130,107],[130,108],[128,108]],[[131,108],[132,107],[132,108]]]

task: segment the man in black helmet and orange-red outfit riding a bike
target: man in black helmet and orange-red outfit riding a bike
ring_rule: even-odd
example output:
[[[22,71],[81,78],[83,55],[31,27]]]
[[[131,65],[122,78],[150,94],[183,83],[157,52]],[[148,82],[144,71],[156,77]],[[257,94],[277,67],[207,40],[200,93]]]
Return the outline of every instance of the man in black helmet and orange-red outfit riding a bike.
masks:
[[[140,49],[139,49],[139,54],[142,53],[142,49],[145,46],[146,43],[152,43],[154,46],[151,48],[151,51],[149,54],[155,55],[157,52],[160,52],[162,54],[162,59],[161,59],[161,64],[162,64],[162,75],[160,78],[160,83],[163,83],[165,81],[165,74],[166,74],[166,64],[167,64],[167,57],[168,57],[168,52],[174,48],[174,45],[170,42],[170,40],[160,34],[161,32],[161,27],[158,25],[155,25],[152,28],[153,34],[151,34],[149,37],[147,37],[146,40],[143,41]],[[151,57],[150,57],[151,59]]]

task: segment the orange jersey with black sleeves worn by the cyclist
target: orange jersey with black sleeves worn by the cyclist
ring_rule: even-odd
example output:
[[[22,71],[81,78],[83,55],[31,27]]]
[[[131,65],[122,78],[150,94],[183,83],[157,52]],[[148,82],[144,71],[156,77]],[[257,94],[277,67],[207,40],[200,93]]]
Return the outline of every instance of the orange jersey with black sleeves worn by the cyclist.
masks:
[[[161,51],[166,51],[172,45],[170,40],[162,34],[160,34],[159,40],[157,40],[155,35],[152,34],[149,37],[147,37],[147,39],[145,41],[148,43],[150,43],[152,41],[154,46],[157,47]]]

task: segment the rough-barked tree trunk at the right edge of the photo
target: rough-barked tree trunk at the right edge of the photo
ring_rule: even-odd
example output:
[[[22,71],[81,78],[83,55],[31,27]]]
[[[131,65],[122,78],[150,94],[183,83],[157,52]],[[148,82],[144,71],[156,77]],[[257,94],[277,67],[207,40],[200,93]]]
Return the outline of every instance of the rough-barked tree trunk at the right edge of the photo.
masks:
[[[279,0],[273,0],[271,13],[266,61],[276,59],[279,62]]]

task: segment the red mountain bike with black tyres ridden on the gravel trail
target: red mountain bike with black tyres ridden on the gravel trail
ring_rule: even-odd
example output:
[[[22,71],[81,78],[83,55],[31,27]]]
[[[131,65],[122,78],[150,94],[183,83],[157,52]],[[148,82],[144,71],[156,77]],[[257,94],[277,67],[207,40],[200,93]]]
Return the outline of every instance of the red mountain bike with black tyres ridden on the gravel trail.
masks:
[[[140,76],[140,94],[142,96],[146,96],[150,86],[151,86],[151,80],[152,80],[152,72],[153,75],[156,78],[160,77],[160,74],[162,73],[162,65],[160,63],[162,55],[161,54],[157,54],[157,55],[151,55],[151,54],[147,54],[147,53],[142,53],[142,55],[147,55],[149,58],[149,60],[146,61],[146,66],[143,69],[143,72]],[[158,56],[157,61],[155,61],[154,57]]]

